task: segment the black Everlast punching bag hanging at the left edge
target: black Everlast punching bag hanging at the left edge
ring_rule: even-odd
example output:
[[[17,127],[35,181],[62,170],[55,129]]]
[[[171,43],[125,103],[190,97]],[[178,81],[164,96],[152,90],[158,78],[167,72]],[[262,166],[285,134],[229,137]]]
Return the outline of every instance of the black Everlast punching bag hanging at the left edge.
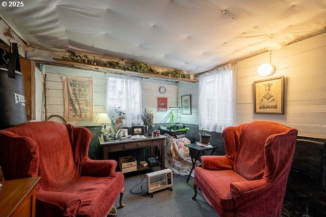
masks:
[[[10,52],[0,48],[0,130],[26,122],[23,76],[20,73],[18,46]]]

